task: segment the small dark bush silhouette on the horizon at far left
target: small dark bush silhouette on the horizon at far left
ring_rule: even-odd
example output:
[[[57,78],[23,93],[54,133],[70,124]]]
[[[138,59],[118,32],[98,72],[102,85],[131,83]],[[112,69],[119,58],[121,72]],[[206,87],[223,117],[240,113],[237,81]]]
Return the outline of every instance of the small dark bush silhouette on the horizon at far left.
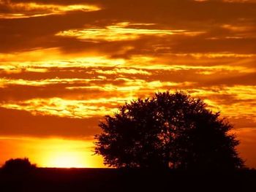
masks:
[[[12,158],[6,161],[4,166],[2,166],[5,172],[28,172],[34,168],[36,168],[36,165],[31,164],[29,158]]]

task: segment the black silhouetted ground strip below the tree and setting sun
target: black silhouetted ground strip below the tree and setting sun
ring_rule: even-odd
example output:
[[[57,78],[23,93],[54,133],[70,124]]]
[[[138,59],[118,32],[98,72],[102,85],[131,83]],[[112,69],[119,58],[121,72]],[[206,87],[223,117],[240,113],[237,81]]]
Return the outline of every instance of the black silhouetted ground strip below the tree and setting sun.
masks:
[[[247,191],[256,172],[175,172],[148,169],[48,169],[0,173],[1,191]]]

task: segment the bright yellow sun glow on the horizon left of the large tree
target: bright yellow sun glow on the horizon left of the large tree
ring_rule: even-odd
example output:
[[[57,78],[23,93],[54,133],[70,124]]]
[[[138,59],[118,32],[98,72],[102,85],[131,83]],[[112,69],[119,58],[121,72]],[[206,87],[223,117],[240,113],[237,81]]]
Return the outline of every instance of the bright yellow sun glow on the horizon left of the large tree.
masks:
[[[94,155],[93,140],[36,137],[0,137],[2,159],[27,157],[39,167],[104,167],[102,158]],[[3,161],[0,162],[4,164]]]

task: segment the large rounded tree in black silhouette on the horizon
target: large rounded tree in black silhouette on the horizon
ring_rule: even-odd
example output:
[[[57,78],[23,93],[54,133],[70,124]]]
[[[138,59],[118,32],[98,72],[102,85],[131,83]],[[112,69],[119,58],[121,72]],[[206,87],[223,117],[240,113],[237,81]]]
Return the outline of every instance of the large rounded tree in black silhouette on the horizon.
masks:
[[[126,103],[99,123],[95,153],[113,167],[241,168],[233,126],[206,107],[181,91]]]

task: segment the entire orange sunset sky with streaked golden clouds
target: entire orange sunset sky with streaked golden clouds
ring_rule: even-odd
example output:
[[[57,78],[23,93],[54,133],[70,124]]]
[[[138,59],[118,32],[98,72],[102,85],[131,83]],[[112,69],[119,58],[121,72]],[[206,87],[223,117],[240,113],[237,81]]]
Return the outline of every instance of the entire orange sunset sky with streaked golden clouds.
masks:
[[[0,0],[0,165],[104,167],[99,121],[187,91],[256,168],[256,1]]]

